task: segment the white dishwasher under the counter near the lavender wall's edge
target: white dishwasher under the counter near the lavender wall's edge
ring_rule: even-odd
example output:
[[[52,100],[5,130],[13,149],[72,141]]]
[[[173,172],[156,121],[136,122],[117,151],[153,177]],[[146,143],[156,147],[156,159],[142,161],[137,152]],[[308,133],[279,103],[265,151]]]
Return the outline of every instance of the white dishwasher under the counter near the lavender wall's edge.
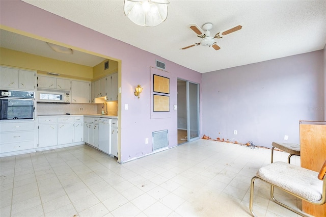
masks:
[[[99,118],[98,121],[98,148],[111,154],[111,118]]]

